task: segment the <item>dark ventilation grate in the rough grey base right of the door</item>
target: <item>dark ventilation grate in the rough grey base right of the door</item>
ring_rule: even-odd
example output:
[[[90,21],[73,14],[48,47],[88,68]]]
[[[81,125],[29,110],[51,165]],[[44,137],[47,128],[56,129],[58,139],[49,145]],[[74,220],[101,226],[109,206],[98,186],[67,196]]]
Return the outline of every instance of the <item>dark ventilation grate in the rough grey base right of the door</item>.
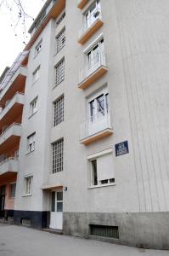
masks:
[[[103,226],[90,224],[90,235],[92,236],[103,236],[119,239],[119,228],[118,226]]]

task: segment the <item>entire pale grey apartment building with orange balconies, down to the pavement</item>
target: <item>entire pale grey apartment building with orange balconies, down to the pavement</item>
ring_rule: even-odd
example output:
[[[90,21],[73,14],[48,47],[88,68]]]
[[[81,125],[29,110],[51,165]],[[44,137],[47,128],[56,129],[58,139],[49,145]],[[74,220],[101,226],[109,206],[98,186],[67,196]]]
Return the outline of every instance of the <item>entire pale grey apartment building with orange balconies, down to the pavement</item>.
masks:
[[[3,216],[169,248],[168,14],[159,0],[45,3],[2,82]]]

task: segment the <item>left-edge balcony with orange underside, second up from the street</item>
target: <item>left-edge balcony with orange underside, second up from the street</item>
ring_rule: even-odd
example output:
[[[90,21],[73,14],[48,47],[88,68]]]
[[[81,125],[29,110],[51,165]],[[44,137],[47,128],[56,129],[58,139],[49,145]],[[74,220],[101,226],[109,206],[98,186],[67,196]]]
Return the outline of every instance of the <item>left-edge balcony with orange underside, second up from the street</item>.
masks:
[[[10,125],[0,135],[0,154],[8,152],[8,148],[13,148],[20,143],[21,125],[14,123]]]

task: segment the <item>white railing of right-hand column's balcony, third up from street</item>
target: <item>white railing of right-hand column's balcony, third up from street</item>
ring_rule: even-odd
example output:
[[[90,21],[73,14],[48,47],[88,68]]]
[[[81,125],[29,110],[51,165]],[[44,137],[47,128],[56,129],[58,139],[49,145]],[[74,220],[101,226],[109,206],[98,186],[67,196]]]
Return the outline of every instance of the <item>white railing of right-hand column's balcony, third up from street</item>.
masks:
[[[86,16],[84,18],[86,18]],[[88,16],[88,18],[84,19],[82,28],[79,30],[79,38],[82,37],[82,35],[87,31],[87,29],[89,29],[91,26],[93,26],[93,23],[96,20],[102,20],[101,9],[99,9],[99,8],[96,8],[94,10],[93,14]]]

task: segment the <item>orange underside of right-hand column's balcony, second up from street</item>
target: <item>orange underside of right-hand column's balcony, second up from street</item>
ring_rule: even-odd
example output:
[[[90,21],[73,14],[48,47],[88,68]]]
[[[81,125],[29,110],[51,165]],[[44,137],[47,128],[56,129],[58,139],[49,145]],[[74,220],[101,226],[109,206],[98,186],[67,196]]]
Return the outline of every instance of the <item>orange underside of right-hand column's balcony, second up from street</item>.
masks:
[[[87,79],[84,79],[80,84],[78,84],[78,87],[82,90],[86,89],[88,86],[90,86],[95,81],[97,81],[101,76],[103,76],[104,73],[106,73],[107,71],[108,71],[108,68],[102,65],[96,71],[94,71],[91,75],[89,75]]]

